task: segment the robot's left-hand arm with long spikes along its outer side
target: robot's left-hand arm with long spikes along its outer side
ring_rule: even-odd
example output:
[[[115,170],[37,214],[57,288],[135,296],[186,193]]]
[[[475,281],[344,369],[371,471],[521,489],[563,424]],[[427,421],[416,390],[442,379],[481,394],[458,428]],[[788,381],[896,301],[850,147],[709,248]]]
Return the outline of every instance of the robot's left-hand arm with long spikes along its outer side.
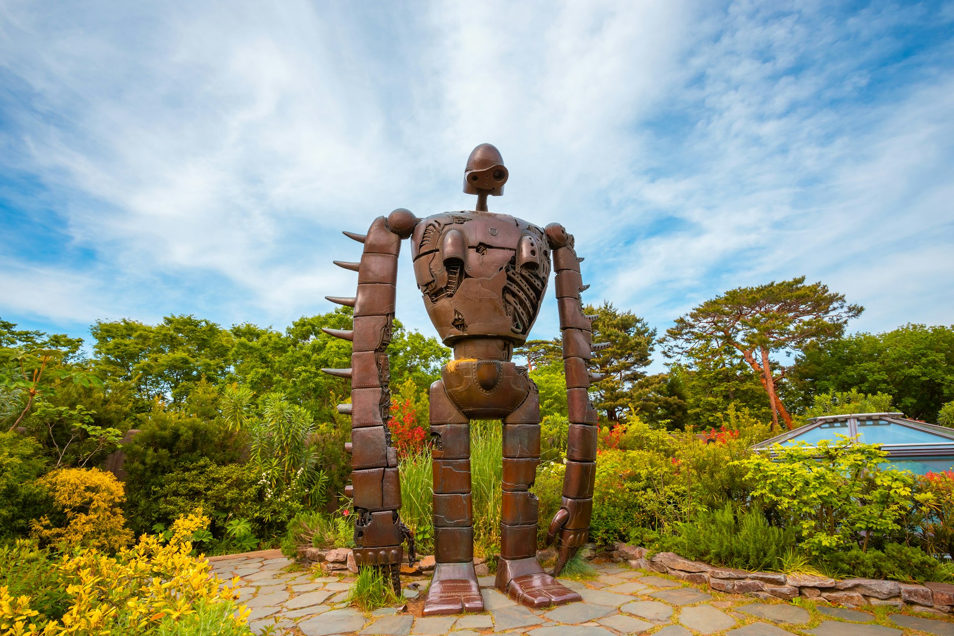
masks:
[[[351,441],[345,450],[351,455],[351,482],[346,496],[353,497],[355,562],[360,566],[388,566],[392,581],[398,582],[407,539],[413,558],[414,543],[401,522],[401,483],[398,454],[391,446],[387,421],[390,417],[389,367],[385,348],[391,340],[394,320],[395,285],[401,239],[410,236],[417,217],[407,210],[395,210],[387,218],[379,216],[366,235],[345,232],[364,244],[361,262],[335,261],[336,265],[358,272],[355,297],[326,297],[332,302],[354,307],[351,331],[322,329],[326,334],[351,340],[351,368],[322,369],[332,376],[351,379],[351,403],[338,410],[351,416]],[[400,589],[398,587],[397,589]]]

